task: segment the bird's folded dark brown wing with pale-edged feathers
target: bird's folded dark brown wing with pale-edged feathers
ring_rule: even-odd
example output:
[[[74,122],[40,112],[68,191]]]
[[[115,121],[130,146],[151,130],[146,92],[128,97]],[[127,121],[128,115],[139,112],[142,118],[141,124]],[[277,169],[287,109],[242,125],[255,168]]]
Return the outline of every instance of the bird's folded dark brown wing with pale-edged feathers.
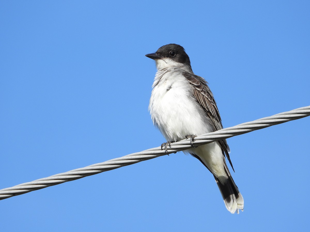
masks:
[[[197,102],[201,105],[203,110],[206,112],[206,116],[212,120],[214,123],[215,131],[223,129],[221,116],[219,115],[219,110],[216,106],[213,94],[207,85],[205,79],[201,76],[190,74],[184,72],[183,76],[193,85],[194,96],[197,99]],[[223,150],[223,155],[227,156],[227,159],[232,166],[232,162],[229,157],[229,147],[226,140],[219,140],[219,144]],[[233,166],[232,166],[232,170]],[[234,170],[235,171],[235,170]]]

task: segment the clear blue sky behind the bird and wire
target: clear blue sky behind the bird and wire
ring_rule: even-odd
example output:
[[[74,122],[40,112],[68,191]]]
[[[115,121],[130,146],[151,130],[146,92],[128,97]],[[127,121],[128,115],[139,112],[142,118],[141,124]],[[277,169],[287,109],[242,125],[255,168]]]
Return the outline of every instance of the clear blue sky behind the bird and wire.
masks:
[[[144,55],[168,43],[210,83],[224,127],[310,105],[309,12],[309,1],[2,1],[0,189],[165,142]],[[180,152],[1,200],[1,228],[306,230],[309,124],[228,139],[239,215]]]

